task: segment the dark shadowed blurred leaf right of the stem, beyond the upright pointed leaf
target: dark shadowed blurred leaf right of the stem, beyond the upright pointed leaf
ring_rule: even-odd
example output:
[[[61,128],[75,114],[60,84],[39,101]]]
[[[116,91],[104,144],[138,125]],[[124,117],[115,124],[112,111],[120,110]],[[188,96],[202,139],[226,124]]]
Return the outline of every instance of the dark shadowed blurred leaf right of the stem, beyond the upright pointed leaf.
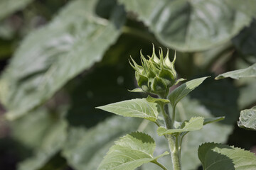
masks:
[[[228,79],[206,79],[201,86],[191,92],[190,96],[198,99],[214,117],[225,116],[225,120],[220,123],[233,125],[238,120],[239,91]]]

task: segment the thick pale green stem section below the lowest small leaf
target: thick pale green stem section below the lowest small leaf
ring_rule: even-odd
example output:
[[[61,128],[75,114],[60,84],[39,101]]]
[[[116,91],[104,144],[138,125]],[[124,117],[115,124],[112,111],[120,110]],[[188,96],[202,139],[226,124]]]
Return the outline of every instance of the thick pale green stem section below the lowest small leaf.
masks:
[[[174,135],[169,135],[168,142],[171,151],[171,161],[173,164],[173,168],[174,170],[181,170],[181,161],[178,149],[178,137],[175,137]]]

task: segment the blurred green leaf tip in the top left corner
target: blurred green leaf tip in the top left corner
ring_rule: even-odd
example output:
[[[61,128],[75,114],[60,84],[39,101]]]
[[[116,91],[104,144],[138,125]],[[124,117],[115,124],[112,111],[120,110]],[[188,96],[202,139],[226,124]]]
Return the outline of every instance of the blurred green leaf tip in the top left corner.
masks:
[[[24,8],[33,0],[1,0],[0,1],[0,21],[11,13]]]

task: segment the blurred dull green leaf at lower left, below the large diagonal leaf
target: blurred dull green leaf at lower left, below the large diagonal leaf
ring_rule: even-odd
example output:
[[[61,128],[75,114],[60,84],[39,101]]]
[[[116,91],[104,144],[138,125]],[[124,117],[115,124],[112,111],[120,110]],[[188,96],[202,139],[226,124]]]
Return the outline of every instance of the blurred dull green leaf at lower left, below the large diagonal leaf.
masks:
[[[18,170],[43,167],[65,144],[68,124],[63,115],[39,108],[12,123],[13,137],[33,147],[33,157],[18,164]]]

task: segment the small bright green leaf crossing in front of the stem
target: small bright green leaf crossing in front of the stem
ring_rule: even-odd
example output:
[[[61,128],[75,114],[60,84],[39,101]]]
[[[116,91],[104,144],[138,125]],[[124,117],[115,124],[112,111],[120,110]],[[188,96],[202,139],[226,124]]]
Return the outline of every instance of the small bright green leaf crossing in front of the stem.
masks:
[[[181,132],[190,132],[195,130],[201,130],[203,128],[203,117],[193,117],[189,121],[186,120],[182,123],[181,128],[167,130],[164,127],[159,127],[157,134],[159,136],[169,135]]]

